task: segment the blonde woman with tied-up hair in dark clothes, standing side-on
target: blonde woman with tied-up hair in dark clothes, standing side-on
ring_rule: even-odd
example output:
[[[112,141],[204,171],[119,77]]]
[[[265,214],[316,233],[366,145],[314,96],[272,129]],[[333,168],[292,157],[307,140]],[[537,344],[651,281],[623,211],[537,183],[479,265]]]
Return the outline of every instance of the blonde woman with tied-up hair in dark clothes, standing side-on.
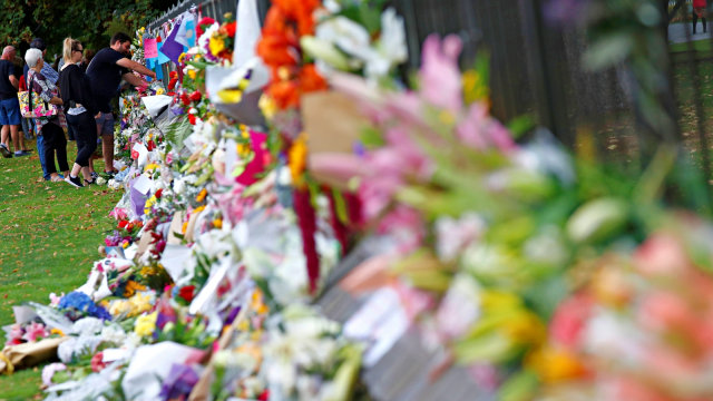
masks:
[[[65,39],[62,49],[65,65],[59,72],[59,88],[67,123],[75,131],[77,140],[77,158],[69,174],[69,183],[75,186],[82,186],[79,172],[85,178],[85,184],[94,184],[91,155],[97,149],[97,126],[94,117],[99,113],[91,96],[87,76],[79,67],[82,52],[84,46],[79,40]]]

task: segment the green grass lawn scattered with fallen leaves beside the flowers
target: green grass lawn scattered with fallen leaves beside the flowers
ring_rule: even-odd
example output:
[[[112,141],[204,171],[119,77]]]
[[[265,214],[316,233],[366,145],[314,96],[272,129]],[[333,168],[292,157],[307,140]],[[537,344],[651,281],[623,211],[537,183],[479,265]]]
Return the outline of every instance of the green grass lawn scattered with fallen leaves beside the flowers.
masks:
[[[35,149],[35,143],[28,147]],[[67,149],[71,166],[75,143]],[[13,323],[13,305],[48,303],[49,293],[70,292],[87,280],[111,227],[108,213],[121,196],[106,186],[78,189],[41,175],[37,151],[0,158],[0,325]],[[0,376],[0,400],[42,398],[40,373]]]

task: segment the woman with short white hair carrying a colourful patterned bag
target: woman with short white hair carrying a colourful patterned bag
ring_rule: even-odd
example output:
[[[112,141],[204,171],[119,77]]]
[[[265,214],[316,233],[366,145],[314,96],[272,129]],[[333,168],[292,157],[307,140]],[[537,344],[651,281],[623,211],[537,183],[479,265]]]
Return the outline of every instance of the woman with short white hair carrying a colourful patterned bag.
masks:
[[[37,100],[35,95],[37,94],[43,101],[51,105],[62,105],[62,99],[57,96],[58,89],[40,72],[45,60],[42,60],[42,51],[39,49],[29,49],[25,53],[25,62],[29,67],[28,71],[28,90],[32,92],[32,104]],[[64,172],[66,179],[69,179],[69,165],[67,164],[67,138],[65,138],[65,131],[60,124],[60,117],[64,117],[60,110],[57,115],[51,117],[38,117],[35,118],[35,126],[37,127],[37,134],[42,136],[45,148],[45,162],[47,166],[47,173],[50,175],[52,183],[61,180],[57,168],[55,166],[55,154],[57,154],[57,163],[59,169]],[[68,180],[69,182],[69,180]],[[71,183],[70,183],[71,184]],[[74,185],[74,184],[72,184]]]

